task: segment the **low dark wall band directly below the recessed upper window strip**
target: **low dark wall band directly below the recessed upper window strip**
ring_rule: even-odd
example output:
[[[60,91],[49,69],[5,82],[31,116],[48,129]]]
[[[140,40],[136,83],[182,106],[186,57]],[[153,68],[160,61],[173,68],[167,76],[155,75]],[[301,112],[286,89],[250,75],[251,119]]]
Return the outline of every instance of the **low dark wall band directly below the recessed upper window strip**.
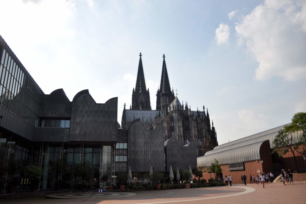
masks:
[[[69,128],[34,128],[32,141],[69,142]]]

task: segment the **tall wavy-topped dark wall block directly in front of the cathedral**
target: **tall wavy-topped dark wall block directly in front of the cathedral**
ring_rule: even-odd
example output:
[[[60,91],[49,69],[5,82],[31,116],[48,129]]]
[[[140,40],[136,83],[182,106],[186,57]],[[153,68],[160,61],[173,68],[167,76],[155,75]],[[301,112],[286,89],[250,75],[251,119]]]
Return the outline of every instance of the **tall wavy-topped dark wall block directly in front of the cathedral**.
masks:
[[[128,127],[128,165],[132,172],[165,171],[163,126],[146,130],[136,119]],[[126,170],[127,171],[127,170]]]

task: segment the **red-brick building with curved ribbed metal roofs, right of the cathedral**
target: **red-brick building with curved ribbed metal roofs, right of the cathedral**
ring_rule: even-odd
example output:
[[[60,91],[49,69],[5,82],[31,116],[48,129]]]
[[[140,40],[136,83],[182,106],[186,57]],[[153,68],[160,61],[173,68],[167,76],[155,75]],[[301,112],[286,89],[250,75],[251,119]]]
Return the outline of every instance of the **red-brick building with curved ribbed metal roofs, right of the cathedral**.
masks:
[[[302,145],[294,151],[298,166],[296,166],[291,152],[287,152],[281,157],[278,156],[278,153],[271,154],[274,147],[273,140],[285,125],[218,145],[213,150],[207,151],[204,156],[198,157],[197,165],[207,170],[207,167],[215,163],[215,159],[217,159],[222,169],[219,177],[224,178],[226,175],[231,175],[233,184],[241,184],[243,173],[249,182],[250,174],[256,176],[261,172],[272,172],[276,177],[280,174],[281,169],[288,170],[288,168],[304,172],[306,171],[306,162],[305,149]],[[301,136],[301,132],[295,132],[292,135],[292,143],[298,143]],[[213,172],[203,172],[203,179],[215,179],[215,177]]]

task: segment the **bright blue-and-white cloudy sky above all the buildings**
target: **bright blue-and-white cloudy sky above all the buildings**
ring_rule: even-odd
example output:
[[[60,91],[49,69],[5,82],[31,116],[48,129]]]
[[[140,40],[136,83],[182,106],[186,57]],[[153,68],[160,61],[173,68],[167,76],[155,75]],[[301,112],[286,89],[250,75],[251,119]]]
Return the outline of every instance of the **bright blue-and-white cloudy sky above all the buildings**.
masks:
[[[170,86],[208,108],[219,144],[306,112],[306,1],[0,0],[0,35],[45,94],[129,107],[142,53],[151,107]]]

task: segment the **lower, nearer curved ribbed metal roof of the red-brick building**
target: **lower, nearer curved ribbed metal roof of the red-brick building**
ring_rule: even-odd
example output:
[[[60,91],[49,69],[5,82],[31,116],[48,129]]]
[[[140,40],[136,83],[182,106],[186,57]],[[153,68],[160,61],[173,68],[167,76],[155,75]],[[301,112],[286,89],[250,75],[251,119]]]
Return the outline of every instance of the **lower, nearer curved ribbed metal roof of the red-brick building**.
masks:
[[[243,161],[260,160],[260,148],[266,141],[267,140],[198,157],[198,166],[210,166],[215,162],[215,159],[218,160],[219,164],[232,164]]]

